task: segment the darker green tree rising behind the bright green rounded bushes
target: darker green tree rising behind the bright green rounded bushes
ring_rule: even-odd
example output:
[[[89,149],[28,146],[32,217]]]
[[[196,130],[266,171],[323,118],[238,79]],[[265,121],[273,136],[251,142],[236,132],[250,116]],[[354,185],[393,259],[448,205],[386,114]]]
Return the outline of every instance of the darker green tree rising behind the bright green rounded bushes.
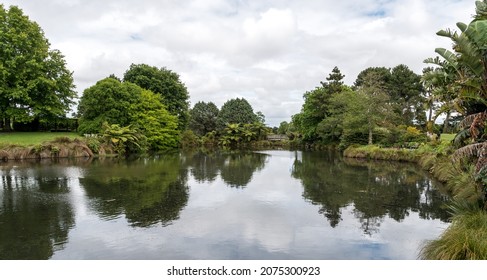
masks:
[[[164,67],[132,64],[123,80],[161,95],[167,110],[177,116],[178,129],[186,128],[189,121],[189,93],[177,73]]]

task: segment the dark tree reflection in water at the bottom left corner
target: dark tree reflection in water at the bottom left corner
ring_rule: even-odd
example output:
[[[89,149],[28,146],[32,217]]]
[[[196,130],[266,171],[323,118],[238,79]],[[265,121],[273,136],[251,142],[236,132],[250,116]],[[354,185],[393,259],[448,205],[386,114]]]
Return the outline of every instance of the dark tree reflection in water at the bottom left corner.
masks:
[[[0,259],[49,259],[74,225],[69,178],[39,164],[4,165],[0,174]]]

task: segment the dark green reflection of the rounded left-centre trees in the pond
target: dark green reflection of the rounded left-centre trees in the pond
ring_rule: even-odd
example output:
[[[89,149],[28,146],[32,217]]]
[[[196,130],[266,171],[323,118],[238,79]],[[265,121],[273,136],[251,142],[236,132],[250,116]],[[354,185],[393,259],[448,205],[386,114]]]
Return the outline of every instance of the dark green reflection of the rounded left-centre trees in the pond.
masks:
[[[132,226],[166,226],[178,219],[188,201],[187,174],[178,154],[95,161],[79,182],[101,217],[125,215]]]

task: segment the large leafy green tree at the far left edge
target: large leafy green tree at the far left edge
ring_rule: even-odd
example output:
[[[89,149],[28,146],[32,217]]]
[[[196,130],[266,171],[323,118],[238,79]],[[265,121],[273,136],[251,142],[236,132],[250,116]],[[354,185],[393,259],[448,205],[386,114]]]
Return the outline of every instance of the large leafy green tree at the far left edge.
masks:
[[[72,73],[59,50],[50,50],[39,25],[21,9],[0,5],[0,118],[13,121],[64,117],[76,98]]]

